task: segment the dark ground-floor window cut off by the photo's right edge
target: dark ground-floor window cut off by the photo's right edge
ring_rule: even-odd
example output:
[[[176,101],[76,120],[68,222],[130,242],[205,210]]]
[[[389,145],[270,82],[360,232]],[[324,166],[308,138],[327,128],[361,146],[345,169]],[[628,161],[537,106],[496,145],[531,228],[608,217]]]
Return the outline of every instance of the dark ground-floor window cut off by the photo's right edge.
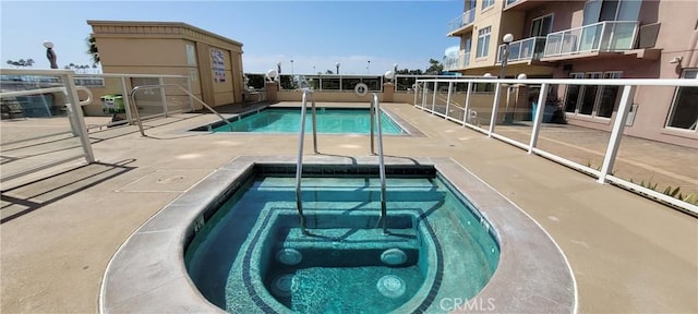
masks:
[[[685,69],[682,77],[696,80],[698,69]],[[698,87],[678,87],[666,126],[696,130],[698,123]]]

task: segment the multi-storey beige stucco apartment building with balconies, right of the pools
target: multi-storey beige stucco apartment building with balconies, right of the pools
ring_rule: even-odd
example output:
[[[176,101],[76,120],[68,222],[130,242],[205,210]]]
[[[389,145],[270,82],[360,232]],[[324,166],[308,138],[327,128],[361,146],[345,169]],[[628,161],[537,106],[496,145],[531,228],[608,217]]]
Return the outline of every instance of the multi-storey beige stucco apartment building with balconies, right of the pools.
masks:
[[[465,0],[446,36],[445,70],[500,75],[503,37],[512,34],[504,76],[540,78],[695,78],[698,1]],[[613,86],[561,86],[569,123],[611,130],[621,98]],[[698,146],[698,88],[643,86],[625,134]]]

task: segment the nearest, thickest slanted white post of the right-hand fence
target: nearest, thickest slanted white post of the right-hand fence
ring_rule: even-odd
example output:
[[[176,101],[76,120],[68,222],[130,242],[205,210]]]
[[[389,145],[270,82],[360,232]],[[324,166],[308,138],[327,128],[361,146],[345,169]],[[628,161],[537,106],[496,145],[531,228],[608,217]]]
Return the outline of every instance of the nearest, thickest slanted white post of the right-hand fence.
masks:
[[[621,138],[623,137],[623,128],[625,126],[625,121],[628,118],[628,112],[630,111],[630,105],[633,104],[633,98],[635,97],[635,85],[625,85],[623,86],[623,95],[621,96],[621,104],[618,105],[618,111],[615,116],[615,121],[613,121],[613,131],[611,131],[611,137],[609,138],[609,146],[606,146],[606,154],[603,156],[603,165],[601,166],[601,172],[599,173],[599,183],[606,182],[606,176],[613,171],[613,162],[615,162],[615,157],[618,153],[618,148],[621,146]]]

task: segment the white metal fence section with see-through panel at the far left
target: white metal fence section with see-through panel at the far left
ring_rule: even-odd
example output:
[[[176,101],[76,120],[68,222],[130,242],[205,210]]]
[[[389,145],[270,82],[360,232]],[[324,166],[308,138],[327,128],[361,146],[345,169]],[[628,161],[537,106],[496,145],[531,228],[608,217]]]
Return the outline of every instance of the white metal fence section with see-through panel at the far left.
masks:
[[[35,173],[80,158],[84,158],[88,164],[95,161],[82,110],[82,106],[92,100],[92,93],[87,88],[75,86],[73,71],[7,69],[2,70],[2,75],[5,78],[3,81],[8,81],[7,77],[27,76],[50,80],[29,80],[36,84],[24,85],[22,88],[14,84],[9,90],[4,88],[5,84],[2,84],[2,118],[7,119],[2,122],[0,136],[0,181]],[[80,101],[79,90],[87,96],[85,100]],[[47,95],[55,94],[61,97],[47,98]],[[44,100],[39,101],[39,106],[35,106],[40,109],[36,113],[45,114],[43,117],[50,120],[44,119],[44,123],[27,120],[28,112],[24,110],[23,101],[33,106],[36,102],[34,98]],[[56,111],[59,114],[52,114]]]

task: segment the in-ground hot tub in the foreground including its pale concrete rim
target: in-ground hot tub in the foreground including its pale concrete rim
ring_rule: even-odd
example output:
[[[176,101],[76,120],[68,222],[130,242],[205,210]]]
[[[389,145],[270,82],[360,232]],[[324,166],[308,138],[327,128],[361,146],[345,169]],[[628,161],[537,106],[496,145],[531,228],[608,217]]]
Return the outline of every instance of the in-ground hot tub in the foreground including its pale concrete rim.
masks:
[[[376,246],[377,235],[371,233],[375,228],[370,227],[375,227],[373,225],[380,212],[374,208],[374,200],[380,196],[372,182],[377,171],[377,161],[373,156],[313,155],[305,158],[303,170],[308,177],[341,179],[339,183],[329,185],[327,182],[315,184],[312,182],[315,179],[303,181],[306,183],[304,188],[308,188],[303,192],[303,202],[314,203],[306,209],[308,214],[313,212],[315,215],[313,222],[308,219],[309,230],[322,237],[313,243],[300,241],[303,239],[297,237],[298,230],[293,229],[298,224],[294,198],[284,196],[288,193],[284,183],[288,178],[285,177],[294,173],[294,160],[291,156],[239,156],[165,206],[139,228],[109,262],[99,298],[101,313],[209,313],[224,312],[224,309],[245,309],[245,313],[291,313],[293,304],[301,306],[298,312],[312,313],[326,310],[321,305],[338,309],[338,303],[333,300],[347,299],[366,303],[380,299],[389,303],[380,311],[393,313],[467,310],[500,313],[577,312],[576,282],[556,243],[526,213],[453,159],[386,158],[386,167],[390,169],[388,179],[392,181],[388,186],[398,189],[393,191],[409,188],[402,193],[392,192],[398,193],[393,196],[388,192],[388,202],[400,200],[398,203],[405,205],[404,208],[389,207],[387,210],[390,235],[401,234],[401,240],[389,242],[389,246],[404,254],[384,250],[387,246]],[[363,185],[359,182],[344,185],[348,184],[345,180],[354,180],[356,176],[368,177],[362,179]],[[254,178],[264,179],[255,181]],[[404,181],[408,179],[417,181]],[[414,183],[418,181],[420,183]],[[440,186],[442,183],[443,186]],[[243,196],[246,193],[240,192],[250,188],[276,192],[245,198],[249,195]],[[323,189],[347,190],[351,193],[328,194]],[[437,201],[449,194],[444,193],[446,190],[443,189],[455,191],[453,195],[457,197],[453,202],[447,201],[450,196]],[[366,198],[362,202],[338,198],[350,195],[363,195],[361,197]],[[342,205],[345,208],[325,208],[324,204],[328,201],[346,203]],[[251,207],[243,206],[249,210],[240,206],[225,209],[226,204],[237,202]],[[255,209],[257,202],[264,204],[262,209]],[[430,210],[424,212],[421,205],[429,206],[430,203]],[[466,204],[468,209],[443,208],[444,205],[457,203]],[[349,210],[348,207],[357,208]],[[227,225],[232,228],[214,227],[226,226],[225,220],[232,216],[224,213],[236,210],[239,213],[233,216],[239,220]],[[243,212],[248,214],[242,215]],[[444,213],[454,215],[442,215]],[[482,228],[486,232],[462,231],[469,228]],[[226,237],[217,237],[221,234]],[[471,243],[488,243],[477,240],[480,234],[484,240],[490,239],[488,241],[495,239],[496,245],[481,245],[480,249],[474,247],[477,250],[453,245],[453,237],[465,234],[470,234]],[[201,241],[203,238],[218,240],[204,244],[207,242]],[[336,253],[330,254],[327,247],[335,244],[333,239],[351,242],[351,245],[339,249],[333,246],[332,252]],[[380,242],[385,245],[386,238],[382,240]],[[210,255],[196,257],[191,250],[204,250]],[[484,261],[496,261],[486,256],[498,255],[498,261],[496,264],[470,263],[481,266],[479,271],[472,273],[479,275],[464,275],[464,270],[454,267],[468,266],[468,262],[461,262],[461,256],[466,256],[461,254],[470,254],[468,252],[471,251],[484,254]],[[387,258],[382,258],[383,255]],[[226,258],[230,263],[215,263],[201,268],[206,259]],[[385,261],[397,264],[386,266]],[[344,266],[360,266],[365,271],[346,274],[344,270],[347,269],[342,268],[351,267],[337,267],[342,266],[340,263],[353,263]],[[224,276],[218,276],[220,274]],[[318,288],[323,287],[322,282],[351,282],[347,278],[366,278],[354,281],[369,282],[370,286],[365,287],[370,287],[373,294],[353,295],[345,285],[339,285],[341,289],[334,286],[333,289]],[[202,280],[217,283],[201,286]],[[486,285],[481,287],[483,281]],[[387,288],[387,291],[381,292],[381,287]],[[410,289],[418,290],[414,292]],[[339,291],[328,293],[333,290]],[[298,300],[293,299],[293,291],[322,293],[317,294],[321,298]],[[344,294],[338,297],[339,292]],[[385,302],[387,300],[389,302]],[[302,304],[309,306],[302,307]]]

